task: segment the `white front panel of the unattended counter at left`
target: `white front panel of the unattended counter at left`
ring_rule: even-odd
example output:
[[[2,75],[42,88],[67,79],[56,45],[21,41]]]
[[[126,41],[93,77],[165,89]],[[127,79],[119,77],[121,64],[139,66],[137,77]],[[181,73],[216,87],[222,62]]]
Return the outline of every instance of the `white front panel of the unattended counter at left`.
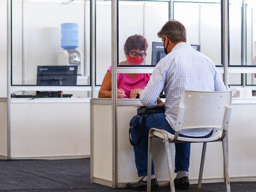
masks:
[[[11,98],[11,158],[90,156],[89,98]]]

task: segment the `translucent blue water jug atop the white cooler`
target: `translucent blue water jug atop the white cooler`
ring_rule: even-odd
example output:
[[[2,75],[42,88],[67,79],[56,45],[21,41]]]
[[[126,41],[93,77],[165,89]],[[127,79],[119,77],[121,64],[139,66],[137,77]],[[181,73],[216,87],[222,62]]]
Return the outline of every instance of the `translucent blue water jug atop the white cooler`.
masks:
[[[61,24],[61,47],[63,49],[76,49],[78,47],[78,24]]]

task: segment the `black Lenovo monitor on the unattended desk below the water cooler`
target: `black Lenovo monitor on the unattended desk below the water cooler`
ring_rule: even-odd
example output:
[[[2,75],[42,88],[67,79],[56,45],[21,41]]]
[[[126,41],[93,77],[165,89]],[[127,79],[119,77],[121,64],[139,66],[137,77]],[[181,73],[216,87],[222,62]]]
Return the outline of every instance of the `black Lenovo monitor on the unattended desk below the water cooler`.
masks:
[[[37,66],[36,85],[68,86],[76,85],[77,66]]]

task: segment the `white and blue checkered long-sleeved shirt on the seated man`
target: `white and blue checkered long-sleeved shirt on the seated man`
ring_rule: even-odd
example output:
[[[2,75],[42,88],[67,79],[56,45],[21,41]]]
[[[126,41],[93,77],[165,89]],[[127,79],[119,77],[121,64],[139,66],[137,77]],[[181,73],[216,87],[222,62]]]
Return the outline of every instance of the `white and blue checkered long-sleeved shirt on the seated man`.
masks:
[[[166,97],[166,119],[174,129],[184,90],[226,91],[226,87],[211,59],[194,50],[190,44],[179,43],[157,63],[147,86],[140,94],[140,102],[146,107],[154,107],[162,90]],[[209,134],[211,130],[212,128],[184,129],[180,133],[200,137]]]

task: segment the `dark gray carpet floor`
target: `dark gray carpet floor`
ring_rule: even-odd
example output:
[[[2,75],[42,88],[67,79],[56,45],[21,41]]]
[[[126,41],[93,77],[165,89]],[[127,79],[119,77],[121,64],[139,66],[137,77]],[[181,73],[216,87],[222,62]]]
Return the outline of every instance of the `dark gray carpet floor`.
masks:
[[[256,192],[256,182],[231,182],[232,192]],[[224,192],[225,183],[190,185],[189,192]],[[90,183],[90,159],[0,160],[0,192],[132,192]],[[157,191],[170,191],[159,187]],[[178,190],[177,190],[178,191]],[[182,190],[179,190],[182,192]],[[134,191],[133,191],[134,192]]]

